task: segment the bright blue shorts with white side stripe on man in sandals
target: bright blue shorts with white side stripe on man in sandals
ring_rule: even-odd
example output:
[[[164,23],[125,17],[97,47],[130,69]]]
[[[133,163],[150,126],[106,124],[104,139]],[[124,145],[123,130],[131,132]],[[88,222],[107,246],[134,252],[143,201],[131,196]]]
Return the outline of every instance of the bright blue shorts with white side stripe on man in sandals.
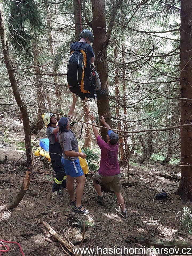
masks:
[[[79,158],[74,161],[69,159],[61,158],[62,165],[65,168],[66,175],[70,175],[71,177],[79,177],[84,175],[81,165],[79,163]]]

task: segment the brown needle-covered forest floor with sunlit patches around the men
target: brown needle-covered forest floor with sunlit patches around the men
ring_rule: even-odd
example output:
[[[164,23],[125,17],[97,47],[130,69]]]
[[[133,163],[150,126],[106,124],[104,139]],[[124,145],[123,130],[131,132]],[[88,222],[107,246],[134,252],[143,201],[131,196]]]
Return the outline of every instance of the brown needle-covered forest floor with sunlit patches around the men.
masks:
[[[22,123],[16,121],[12,123],[11,133],[7,132],[5,129],[7,125],[2,125],[3,122],[0,127],[3,134],[0,141],[0,160],[3,160],[6,154],[9,162],[9,164],[0,165],[0,205],[10,201],[18,193],[25,175],[25,168],[15,171],[20,165],[19,161],[25,161],[24,151],[22,151],[24,138]],[[33,145],[38,145],[37,136],[32,135],[32,139]],[[95,144],[94,147],[96,147]],[[18,161],[19,164],[10,163],[14,161]],[[83,206],[89,210],[90,214],[74,214],[69,205],[69,194],[66,189],[63,189],[63,197],[58,197],[51,192],[54,178],[52,169],[44,168],[38,158],[34,159],[34,163],[33,178],[21,203],[10,212],[0,213],[0,239],[19,242],[25,256],[67,255],[59,243],[53,240],[48,232],[42,230],[46,228],[41,223],[37,223],[40,218],[64,239],[66,235],[77,248],[83,235],[81,225],[86,221],[89,227],[85,229],[86,239],[82,248],[95,248],[97,255],[102,255],[100,250],[97,253],[97,247],[114,249],[123,246],[126,248],[141,246],[126,243],[127,236],[142,236],[162,241],[191,241],[192,239],[180,224],[183,206],[190,208],[191,203],[184,203],[178,195],[174,194],[179,179],[173,173],[179,172],[178,167],[162,166],[158,162],[130,166],[129,179],[133,182],[132,186],[122,186],[122,195],[128,213],[128,218],[123,219],[119,215],[117,199],[113,193],[103,192],[105,206],[97,205],[91,175],[86,177],[87,182],[82,199]],[[122,182],[126,182],[126,169],[121,169],[121,174]],[[168,193],[168,199],[157,201],[155,195],[162,189]],[[77,219],[72,219],[72,216]],[[69,219],[73,220],[72,223],[79,222],[81,225],[72,224],[68,222]],[[46,237],[54,242],[47,242]],[[77,241],[80,243],[76,243]],[[9,244],[9,247],[9,252],[2,253],[3,256],[21,255],[18,246]],[[105,253],[105,255],[110,254]],[[135,255],[135,253],[125,255]],[[146,254],[138,253],[138,255]]]

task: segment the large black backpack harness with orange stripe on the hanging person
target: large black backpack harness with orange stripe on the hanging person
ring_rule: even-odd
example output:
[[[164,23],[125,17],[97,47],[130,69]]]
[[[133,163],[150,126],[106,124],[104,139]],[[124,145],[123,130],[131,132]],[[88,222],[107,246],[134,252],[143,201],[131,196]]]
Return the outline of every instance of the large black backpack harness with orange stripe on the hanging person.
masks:
[[[67,65],[67,83],[69,90],[79,95],[81,99],[96,99],[95,68],[93,64],[87,63],[88,47],[88,45],[82,48],[71,47]]]

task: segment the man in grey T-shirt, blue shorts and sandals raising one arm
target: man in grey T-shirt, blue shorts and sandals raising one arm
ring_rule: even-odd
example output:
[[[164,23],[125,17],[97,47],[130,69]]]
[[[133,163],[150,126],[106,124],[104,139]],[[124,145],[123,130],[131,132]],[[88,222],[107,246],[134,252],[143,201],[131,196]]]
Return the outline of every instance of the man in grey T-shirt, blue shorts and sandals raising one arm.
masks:
[[[77,97],[78,98],[78,97]],[[86,210],[81,205],[81,199],[84,192],[86,178],[79,163],[79,158],[86,158],[86,154],[79,153],[78,142],[74,135],[74,133],[70,129],[70,121],[73,117],[75,110],[75,103],[77,102],[77,98],[73,94],[73,103],[70,107],[69,113],[66,117],[62,117],[59,122],[59,142],[63,149],[62,155],[62,164],[65,167],[66,175],[67,175],[67,190],[69,191],[70,196],[70,204],[74,205],[75,213],[83,213],[88,214],[89,211]],[[76,199],[74,195],[74,178],[78,181],[77,189],[76,189]]]

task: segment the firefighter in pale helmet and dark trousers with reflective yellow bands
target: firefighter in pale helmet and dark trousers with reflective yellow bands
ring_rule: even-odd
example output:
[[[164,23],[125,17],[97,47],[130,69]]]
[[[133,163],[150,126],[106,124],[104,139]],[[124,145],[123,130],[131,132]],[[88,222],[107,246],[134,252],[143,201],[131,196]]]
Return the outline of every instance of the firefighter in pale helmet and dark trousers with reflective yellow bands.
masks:
[[[63,195],[61,188],[66,188],[66,174],[65,168],[61,163],[62,148],[59,144],[59,126],[57,124],[57,118],[53,113],[47,113],[42,115],[45,126],[47,127],[47,137],[49,138],[49,155],[51,158],[52,167],[56,173],[53,182],[53,192],[57,192]]]

